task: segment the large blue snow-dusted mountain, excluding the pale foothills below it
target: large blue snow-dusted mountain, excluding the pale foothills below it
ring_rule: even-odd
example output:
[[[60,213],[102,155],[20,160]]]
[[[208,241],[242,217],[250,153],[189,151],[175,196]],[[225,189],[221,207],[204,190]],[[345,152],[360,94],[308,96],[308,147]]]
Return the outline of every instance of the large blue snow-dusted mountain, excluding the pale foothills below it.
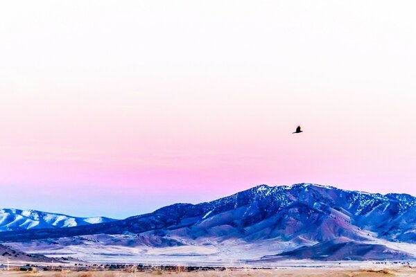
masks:
[[[339,236],[365,240],[368,232],[374,232],[388,240],[415,242],[415,203],[415,197],[410,195],[361,193],[313,184],[262,185],[213,202],[174,204],[114,222],[59,231],[2,232],[0,240],[153,230],[200,237],[216,227],[227,229],[227,235],[240,233],[245,240],[291,240],[300,235],[315,241]]]

